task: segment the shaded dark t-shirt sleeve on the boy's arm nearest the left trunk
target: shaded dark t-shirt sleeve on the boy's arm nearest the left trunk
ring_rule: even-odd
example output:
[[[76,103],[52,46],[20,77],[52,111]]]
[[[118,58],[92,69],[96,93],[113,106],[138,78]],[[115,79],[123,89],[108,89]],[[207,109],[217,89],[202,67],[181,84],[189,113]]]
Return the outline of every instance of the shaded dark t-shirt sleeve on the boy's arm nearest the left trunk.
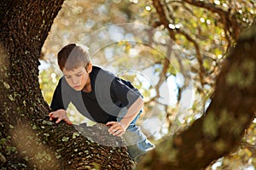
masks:
[[[62,94],[61,94],[61,79],[55,88],[55,92],[53,94],[53,98],[51,100],[50,108],[52,111],[57,111],[60,109],[65,109],[63,100],[62,100]]]

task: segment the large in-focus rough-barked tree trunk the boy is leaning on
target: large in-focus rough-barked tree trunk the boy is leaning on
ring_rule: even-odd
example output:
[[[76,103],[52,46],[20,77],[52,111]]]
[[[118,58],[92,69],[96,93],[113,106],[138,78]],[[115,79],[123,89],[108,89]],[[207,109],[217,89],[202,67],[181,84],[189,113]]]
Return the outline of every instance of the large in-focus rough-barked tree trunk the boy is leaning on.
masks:
[[[108,133],[107,127],[55,125],[38,82],[38,59],[61,9],[58,1],[0,3],[0,167],[7,169],[132,169],[125,147],[96,144],[83,134]],[[104,139],[103,139],[104,140]],[[109,144],[122,142],[117,137]]]

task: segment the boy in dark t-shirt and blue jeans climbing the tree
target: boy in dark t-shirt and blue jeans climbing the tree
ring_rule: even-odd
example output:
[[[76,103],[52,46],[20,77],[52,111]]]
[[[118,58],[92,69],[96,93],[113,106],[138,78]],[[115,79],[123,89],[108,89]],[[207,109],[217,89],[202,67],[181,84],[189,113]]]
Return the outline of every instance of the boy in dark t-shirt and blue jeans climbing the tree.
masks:
[[[92,66],[88,48],[68,44],[58,53],[58,65],[63,73],[51,102],[49,120],[65,121],[70,102],[94,122],[105,123],[108,132],[122,136],[130,156],[136,160],[154,148],[140,128],[135,125],[143,108],[143,96],[131,82]]]

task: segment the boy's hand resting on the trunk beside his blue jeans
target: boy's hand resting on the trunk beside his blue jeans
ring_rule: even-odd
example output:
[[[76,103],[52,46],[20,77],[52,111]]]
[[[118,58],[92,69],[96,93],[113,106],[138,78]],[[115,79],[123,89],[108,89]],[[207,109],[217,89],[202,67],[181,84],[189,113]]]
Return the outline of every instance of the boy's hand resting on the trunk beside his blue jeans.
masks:
[[[110,126],[108,128],[108,132],[114,136],[122,136],[127,128],[121,122],[108,122],[106,125]]]

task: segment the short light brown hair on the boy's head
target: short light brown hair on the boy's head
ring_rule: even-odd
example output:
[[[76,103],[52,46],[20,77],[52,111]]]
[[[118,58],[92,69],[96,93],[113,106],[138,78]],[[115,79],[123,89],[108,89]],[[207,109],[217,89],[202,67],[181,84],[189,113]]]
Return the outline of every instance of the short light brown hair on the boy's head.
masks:
[[[71,71],[83,66],[86,69],[86,66],[90,62],[90,55],[88,48],[81,44],[70,43],[61,48],[58,53],[58,65],[63,71]]]

